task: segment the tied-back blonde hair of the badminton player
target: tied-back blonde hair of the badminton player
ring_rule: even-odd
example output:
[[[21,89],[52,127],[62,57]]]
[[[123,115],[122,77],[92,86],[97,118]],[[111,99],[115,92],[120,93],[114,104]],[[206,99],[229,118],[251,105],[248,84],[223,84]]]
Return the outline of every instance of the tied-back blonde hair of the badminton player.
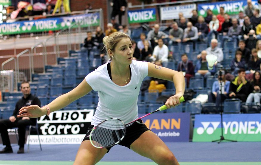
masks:
[[[110,55],[108,53],[108,50],[110,49],[111,51],[114,51],[114,49],[117,46],[118,42],[122,38],[129,38],[130,39],[130,37],[128,35],[126,35],[125,33],[123,33],[123,32],[114,32],[114,33],[112,33],[112,34],[110,34],[108,36],[105,36],[103,38],[102,42],[104,44],[104,49],[106,49],[108,59],[112,59],[112,57],[110,57]]]

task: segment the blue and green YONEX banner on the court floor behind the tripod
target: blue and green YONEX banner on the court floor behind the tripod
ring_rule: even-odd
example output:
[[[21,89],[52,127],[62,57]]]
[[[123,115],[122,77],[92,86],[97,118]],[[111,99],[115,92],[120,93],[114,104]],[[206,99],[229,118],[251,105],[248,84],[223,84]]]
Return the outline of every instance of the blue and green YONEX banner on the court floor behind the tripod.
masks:
[[[193,141],[213,141],[220,136],[220,115],[195,115]],[[261,141],[261,114],[224,114],[223,136],[236,141]]]

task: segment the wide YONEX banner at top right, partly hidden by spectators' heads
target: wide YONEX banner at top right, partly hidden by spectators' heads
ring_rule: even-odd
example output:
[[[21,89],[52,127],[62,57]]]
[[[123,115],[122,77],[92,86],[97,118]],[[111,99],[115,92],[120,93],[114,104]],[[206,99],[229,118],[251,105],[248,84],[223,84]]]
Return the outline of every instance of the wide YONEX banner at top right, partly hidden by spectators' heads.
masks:
[[[259,9],[257,0],[252,0],[252,4]],[[197,5],[198,15],[202,15],[206,17],[207,10],[210,9],[213,11],[214,15],[220,13],[220,7],[224,7],[225,13],[228,15],[238,14],[240,11],[244,11],[245,7],[247,7],[247,1],[223,1],[223,2],[215,2],[215,3],[203,3]]]

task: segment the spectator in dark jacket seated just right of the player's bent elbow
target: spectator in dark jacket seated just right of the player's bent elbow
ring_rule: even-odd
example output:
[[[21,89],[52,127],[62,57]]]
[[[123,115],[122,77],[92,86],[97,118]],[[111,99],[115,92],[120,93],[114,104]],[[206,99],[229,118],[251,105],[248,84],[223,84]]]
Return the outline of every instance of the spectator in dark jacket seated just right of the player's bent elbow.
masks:
[[[187,79],[187,87],[189,87],[189,79],[194,76],[193,62],[188,59],[188,55],[185,53],[181,55],[181,61],[178,64],[177,71],[183,73]]]

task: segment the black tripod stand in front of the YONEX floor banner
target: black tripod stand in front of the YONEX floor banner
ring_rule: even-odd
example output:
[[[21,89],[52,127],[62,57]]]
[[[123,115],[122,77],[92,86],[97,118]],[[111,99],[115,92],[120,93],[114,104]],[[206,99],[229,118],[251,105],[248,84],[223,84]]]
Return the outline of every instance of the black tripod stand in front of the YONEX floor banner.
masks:
[[[233,142],[237,142],[236,140],[228,140],[228,139],[225,139],[224,136],[223,136],[223,107],[222,107],[222,87],[223,87],[223,84],[222,84],[222,75],[224,75],[225,72],[224,71],[219,71],[218,75],[219,75],[219,81],[220,81],[220,116],[221,116],[221,136],[220,136],[220,139],[217,139],[217,140],[213,140],[212,142],[216,142],[218,141],[217,143],[219,144],[221,141],[223,140],[226,140],[226,141],[233,141]],[[225,85],[225,84],[224,84]],[[216,98],[217,99],[217,98]]]

